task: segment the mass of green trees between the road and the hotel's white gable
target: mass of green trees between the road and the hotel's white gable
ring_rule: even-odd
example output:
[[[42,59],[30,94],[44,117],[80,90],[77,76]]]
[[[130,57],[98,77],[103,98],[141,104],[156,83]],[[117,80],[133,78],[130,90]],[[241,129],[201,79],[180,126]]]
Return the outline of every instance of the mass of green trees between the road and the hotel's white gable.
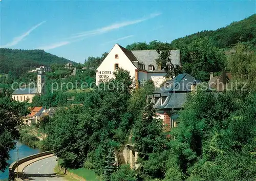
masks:
[[[48,134],[45,147],[55,150],[66,166],[94,169],[107,180],[116,171],[114,149],[126,142],[133,121],[143,112],[143,107],[135,111],[132,104],[139,101],[140,106],[145,105],[146,95],[154,90],[148,83],[146,89],[132,93],[129,72],[118,70],[115,76],[86,93],[82,105],[62,108],[48,124],[40,126]]]

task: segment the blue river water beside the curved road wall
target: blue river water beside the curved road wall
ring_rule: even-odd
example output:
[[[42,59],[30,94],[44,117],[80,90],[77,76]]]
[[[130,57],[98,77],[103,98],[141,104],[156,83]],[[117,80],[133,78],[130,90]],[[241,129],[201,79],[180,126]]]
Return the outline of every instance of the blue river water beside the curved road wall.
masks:
[[[19,141],[17,141],[16,149],[13,149],[10,151],[10,159],[8,160],[9,164],[12,164],[13,162],[15,162],[17,160],[17,148],[18,148],[19,159],[22,159],[22,158],[32,155],[32,154],[42,152],[42,150],[40,150],[38,148],[34,149],[34,148],[31,148],[31,147],[24,145],[24,144],[20,143]],[[0,180],[8,180],[8,168],[5,169],[4,172],[0,171]]]

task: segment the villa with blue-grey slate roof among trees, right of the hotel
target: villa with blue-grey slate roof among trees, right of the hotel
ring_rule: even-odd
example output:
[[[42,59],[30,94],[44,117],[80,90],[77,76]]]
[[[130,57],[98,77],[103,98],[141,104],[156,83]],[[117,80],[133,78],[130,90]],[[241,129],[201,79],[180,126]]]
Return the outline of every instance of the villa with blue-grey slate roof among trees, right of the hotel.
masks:
[[[163,120],[166,130],[177,126],[177,111],[183,109],[188,94],[196,90],[199,83],[189,74],[179,74],[166,81],[153,95],[148,95],[148,101],[154,103],[158,118]]]

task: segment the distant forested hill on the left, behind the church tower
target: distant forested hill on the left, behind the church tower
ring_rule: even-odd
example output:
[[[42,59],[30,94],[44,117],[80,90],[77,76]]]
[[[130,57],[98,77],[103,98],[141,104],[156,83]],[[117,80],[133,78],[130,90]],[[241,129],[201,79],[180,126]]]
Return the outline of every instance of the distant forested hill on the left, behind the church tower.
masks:
[[[8,74],[11,71],[16,75],[21,75],[31,67],[50,65],[52,63],[65,64],[68,62],[72,61],[43,50],[0,49],[0,74]]]

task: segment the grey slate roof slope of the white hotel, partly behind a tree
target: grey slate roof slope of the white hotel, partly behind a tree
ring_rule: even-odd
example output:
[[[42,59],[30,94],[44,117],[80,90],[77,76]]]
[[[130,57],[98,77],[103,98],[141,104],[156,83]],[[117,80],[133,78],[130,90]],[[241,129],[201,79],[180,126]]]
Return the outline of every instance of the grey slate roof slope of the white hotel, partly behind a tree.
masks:
[[[159,54],[156,50],[136,50],[131,51],[133,55],[137,58],[138,61],[143,62],[145,64],[145,70],[148,71],[148,65],[154,65],[157,70],[156,59]],[[170,51],[170,59],[173,64],[181,66],[180,62],[180,50],[171,50]]]

